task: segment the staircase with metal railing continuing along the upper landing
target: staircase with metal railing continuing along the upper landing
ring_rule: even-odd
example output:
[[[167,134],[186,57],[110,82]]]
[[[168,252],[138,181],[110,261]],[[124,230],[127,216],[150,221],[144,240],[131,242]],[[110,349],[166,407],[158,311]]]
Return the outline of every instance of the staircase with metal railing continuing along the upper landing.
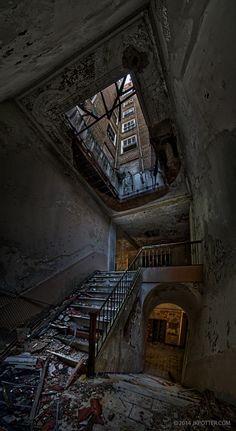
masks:
[[[130,351],[125,333],[132,315],[135,315],[137,300],[139,301],[143,294],[148,293],[147,286],[143,288],[142,284],[142,295],[138,296],[141,279],[142,283],[147,285],[150,281],[146,280],[147,271],[153,271],[155,278],[156,273],[159,274],[162,269],[173,271],[173,265],[180,265],[178,268],[183,268],[182,265],[186,264],[186,259],[189,268],[196,262],[199,264],[200,245],[200,241],[195,241],[142,247],[126,271],[94,272],[80,286],[77,286],[74,293],[65,299],[63,304],[53,307],[46,319],[34,328],[31,327],[26,341],[39,340],[40,343],[47,345],[46,355],[49,352],[58,356],[60,352],[71,356],[74,364],[83,359],[90,376],[99,369],[108,371],[113,367],[118,371],[120,365],[125,364],[129,364],[129,368],[132,368],[134,358],[141,354],[140,351],[137,352],[139,349],[137,345],[140,344],[142,334],[137,335],[137,343],[130,339],[131,344],[134,342],[136,346],[132,344]],[[180,252],[183,247],[185,253]],[[180,256],[182,256],[181,259]],[[159,280],[154,281],[156,283]],[[149,290],[152,289],[152,285],[151,279],[148,284]],[[140,311],[137,316],[137,325],[140,326]],[[118,355],[117,345],[120,349]],[[10,351],[9,347],[8,351]],[[70,359],[67,362],[71,362]]]

